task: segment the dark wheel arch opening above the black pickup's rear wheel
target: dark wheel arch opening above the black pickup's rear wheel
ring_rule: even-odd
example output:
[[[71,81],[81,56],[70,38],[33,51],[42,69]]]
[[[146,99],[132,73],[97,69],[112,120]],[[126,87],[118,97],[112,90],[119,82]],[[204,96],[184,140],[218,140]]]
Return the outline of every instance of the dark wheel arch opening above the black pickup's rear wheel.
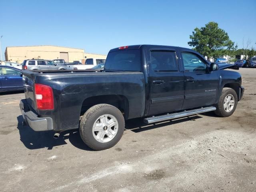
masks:
[[[86,98],[82,102],[81,115],[84,114],[90,107],[97,104],[109,104],[118,108],[127,119],[129,116],[129,102],[124,95],[100,95]]]

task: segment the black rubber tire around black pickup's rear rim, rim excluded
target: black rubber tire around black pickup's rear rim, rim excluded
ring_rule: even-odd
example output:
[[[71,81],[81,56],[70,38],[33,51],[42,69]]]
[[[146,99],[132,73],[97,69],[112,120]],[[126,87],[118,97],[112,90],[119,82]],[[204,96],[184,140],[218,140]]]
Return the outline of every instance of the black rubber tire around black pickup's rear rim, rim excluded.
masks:
[[[118,122],[118,131],[114,138],[109,142],[97,141],[92,133],[94,122],[102,115],[110,114]],[[79,132],[84,143],[94,150],[104,150],[113,147],[118,143],[124,133],[124,116],[118,108],[108,104],[98,104],[88,109],[80,121]]]

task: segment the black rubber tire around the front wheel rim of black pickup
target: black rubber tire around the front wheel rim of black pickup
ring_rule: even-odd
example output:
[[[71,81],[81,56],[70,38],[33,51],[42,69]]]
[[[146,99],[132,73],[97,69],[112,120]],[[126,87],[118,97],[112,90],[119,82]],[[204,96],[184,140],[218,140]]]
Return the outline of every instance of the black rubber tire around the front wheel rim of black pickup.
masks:
[[[229,94],[234,97],[234,108],[230,112],[226,112],[226,110],[224,109],[224,100],[226,96],[228,96]],[[238,103],[238,99],[237,99],[236,91],[232,88],[225,87],[222,89],[222,93],[220,95],[220,98],[216,106],[217,109],[214,111],[214,113],[220,117],[228,117],[232,115],[236,110],[237,103]]]

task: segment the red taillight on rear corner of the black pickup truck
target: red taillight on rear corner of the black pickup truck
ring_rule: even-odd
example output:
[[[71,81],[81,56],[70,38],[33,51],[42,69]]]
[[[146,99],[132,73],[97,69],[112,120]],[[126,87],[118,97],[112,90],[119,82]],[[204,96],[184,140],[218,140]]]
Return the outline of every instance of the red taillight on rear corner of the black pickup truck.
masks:
[[[53,92],[48,85],[35,83],[36,106],[39,110],[53,110]]]

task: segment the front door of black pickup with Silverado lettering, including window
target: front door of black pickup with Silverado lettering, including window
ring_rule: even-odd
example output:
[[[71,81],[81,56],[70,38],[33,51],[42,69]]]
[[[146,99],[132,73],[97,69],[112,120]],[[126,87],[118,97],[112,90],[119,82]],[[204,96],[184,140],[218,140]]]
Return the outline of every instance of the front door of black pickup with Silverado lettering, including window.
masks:
[[[218,70],[208,72],[207,62],[195,52],[182,52],[185,77],[183,109],[214,104],[218,90]]]

